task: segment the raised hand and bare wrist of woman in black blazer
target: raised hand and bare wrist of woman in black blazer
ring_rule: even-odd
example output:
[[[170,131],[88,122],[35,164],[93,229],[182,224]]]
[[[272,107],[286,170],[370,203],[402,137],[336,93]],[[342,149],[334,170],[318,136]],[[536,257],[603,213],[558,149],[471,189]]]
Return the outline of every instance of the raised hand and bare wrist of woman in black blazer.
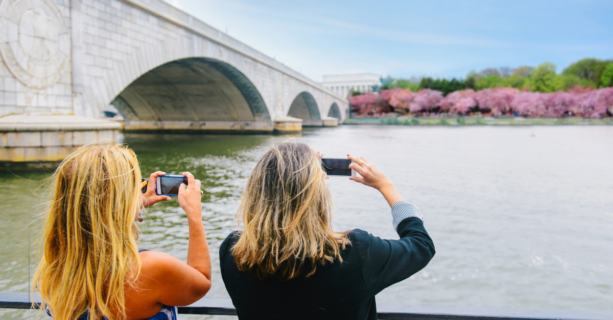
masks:
[[[349,154],[347,157],[356,162],[351,163],[349,168],[356,170],[361,176],[350,177],[349,179],[379,190],[379,192],[381,192],[381,194],[387,200],[390,207],[394,206],[394,203],[397,201],[403,200],[400,192],[398,192],[398,189],[394,185],[394,182],[392,182],[392,179],[389,179],[387,174],[379,169],[378,166],[376,166],[374,163],[368,162],[368,160],[366,160],[364,157]],[[359,163],[362,161],[364,161],[364,163],[360,165]]]

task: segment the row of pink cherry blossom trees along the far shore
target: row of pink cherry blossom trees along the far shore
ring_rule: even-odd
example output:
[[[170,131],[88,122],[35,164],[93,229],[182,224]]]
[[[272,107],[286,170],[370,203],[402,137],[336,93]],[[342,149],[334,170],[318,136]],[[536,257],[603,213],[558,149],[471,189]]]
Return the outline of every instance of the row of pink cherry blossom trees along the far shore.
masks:
[[[584,117],[604,117],[613,114],[613,87],[592,90],[576,86],[568,92],[551,93],[520,92],[511,87],[495,87],[474,92],[472,89],[455,91],[443,98],[440,91],[421,89],[382,90],[381,93],[368,92],[349,98],[352,110],[363,115],[383,114],[390,107],[399,113],[429,112],[440,106],[443,112],[467,114],[475,106],[481,111],[491,111],[499,116],[516,112],[522,116],[562,117],[576,115]]]

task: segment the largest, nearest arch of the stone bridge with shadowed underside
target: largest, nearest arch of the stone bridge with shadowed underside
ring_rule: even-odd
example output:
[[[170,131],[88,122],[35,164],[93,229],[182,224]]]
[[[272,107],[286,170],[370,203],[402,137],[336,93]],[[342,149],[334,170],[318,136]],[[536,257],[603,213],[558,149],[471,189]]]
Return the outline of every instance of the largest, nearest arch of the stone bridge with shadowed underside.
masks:
[[[238,69],[184,58],[149,70],[113,100],[128,129],[263,130],[272,125],[261,94]]]

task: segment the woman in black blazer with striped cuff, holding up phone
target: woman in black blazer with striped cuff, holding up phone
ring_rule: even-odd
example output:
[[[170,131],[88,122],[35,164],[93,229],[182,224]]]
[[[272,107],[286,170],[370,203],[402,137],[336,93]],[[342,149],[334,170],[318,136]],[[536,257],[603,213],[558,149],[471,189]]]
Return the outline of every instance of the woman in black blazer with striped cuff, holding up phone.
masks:
[[[423,218],[373,163],[348,155],[392,208],[400,240],[332,231],[332,196],[319,155],[294,140],[257,162],[237,212],[243,231],[219,248],[221,276],[245,319],[377,319],[375,295],[424,268],[435,253]]]

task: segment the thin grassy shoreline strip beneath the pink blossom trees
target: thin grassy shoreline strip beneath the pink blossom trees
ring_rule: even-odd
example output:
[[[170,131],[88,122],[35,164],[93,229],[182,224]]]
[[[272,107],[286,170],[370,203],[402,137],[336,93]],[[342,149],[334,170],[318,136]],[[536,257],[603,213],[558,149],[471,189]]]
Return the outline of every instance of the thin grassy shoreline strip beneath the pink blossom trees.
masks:
[[[525,117],[354,117],[345,119],[343,125],[613,125],[613,118],[525,118]]]

